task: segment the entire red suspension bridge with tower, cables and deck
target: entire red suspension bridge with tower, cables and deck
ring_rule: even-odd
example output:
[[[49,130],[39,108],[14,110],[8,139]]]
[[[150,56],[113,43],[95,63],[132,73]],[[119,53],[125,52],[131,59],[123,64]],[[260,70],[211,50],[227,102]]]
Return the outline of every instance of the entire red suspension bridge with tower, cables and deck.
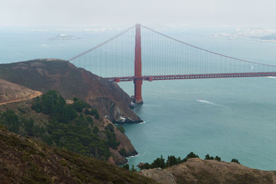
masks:
[[[205,50],[141,24],[68,61],[109,81],[133,81],[135,103],[143,103],[143,81],[276,76],[276,65]]]

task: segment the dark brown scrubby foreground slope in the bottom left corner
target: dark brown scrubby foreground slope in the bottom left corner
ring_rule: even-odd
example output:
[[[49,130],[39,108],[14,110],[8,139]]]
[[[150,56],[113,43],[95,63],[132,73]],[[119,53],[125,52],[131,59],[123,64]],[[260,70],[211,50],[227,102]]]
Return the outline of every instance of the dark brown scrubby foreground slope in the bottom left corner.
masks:
[[[0,125],[1,183],[156,183],[88,156],[49,147]]]

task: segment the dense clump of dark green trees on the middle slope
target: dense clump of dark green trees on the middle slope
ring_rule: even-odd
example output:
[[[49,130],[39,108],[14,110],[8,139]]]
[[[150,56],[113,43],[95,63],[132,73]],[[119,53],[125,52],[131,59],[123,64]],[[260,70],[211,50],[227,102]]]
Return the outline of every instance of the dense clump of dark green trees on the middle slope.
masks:
[[[85,114],[82,113],[83,109]],[[108,159],[110,156],[108,147],[116,148],[119,145],[112,129],[108,126],[108,141],[103,141],[99,135],[97,126],[90,130],[90,125],[93,126],[93,120],[90,117],[88,110],[90,105],[77,98],[74,103],[66,105],[65,100],[56,91],[50,90],[43,94],[41,98],[34,100],[32,109],[36,112],[50,115],[50,121],[46,127],[48,134],[42,136],[42,140],[52,145],[55,143],[59,147],[64,147],[68,150],[88,155]],[[79,112],[79,114],[78,114]],[[97,114],[97,110],[93,110]],[[26,122],[28,132],[32,133],[37,130],[32,130],[31,122]],[[112,126],[112,125],[111,125]]]

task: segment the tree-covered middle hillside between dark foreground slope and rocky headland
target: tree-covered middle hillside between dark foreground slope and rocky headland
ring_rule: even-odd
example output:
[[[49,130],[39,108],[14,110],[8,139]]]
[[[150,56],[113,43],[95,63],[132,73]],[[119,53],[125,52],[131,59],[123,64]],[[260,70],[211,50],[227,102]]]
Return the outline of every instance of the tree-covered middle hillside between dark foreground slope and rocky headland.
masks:
[[[79,105],[88,104],[78,100],[66,105],[62,96],[49,91],[40,98],[0,105],[0,124],[21,136],[116,165],[126,163],[126,156],[137,154],[128,137],[108,119],[95,117],[89,108]]]

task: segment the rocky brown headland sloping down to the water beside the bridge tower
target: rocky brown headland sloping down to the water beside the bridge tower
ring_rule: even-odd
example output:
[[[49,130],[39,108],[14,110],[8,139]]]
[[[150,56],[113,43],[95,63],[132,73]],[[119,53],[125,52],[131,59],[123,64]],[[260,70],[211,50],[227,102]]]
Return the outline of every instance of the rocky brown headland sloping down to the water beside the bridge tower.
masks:
[[[0,64],[0,79],[32,90],[57,90],[65,99],[77,96],[110,121],[141,122],[130,109],[131,99],[119,85],[59,59],[37,59]]]

